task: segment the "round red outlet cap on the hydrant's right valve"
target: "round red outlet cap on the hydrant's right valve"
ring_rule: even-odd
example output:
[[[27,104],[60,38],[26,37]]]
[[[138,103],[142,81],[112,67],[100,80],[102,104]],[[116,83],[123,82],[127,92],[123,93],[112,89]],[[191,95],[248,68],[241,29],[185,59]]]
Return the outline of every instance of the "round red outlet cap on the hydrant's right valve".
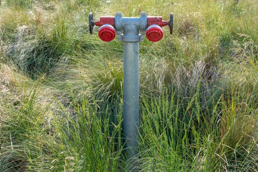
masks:
[[[162,39],[163,31],[158,25],[151,25],[146,30],[146,37],[152,42],[157,42]]]

